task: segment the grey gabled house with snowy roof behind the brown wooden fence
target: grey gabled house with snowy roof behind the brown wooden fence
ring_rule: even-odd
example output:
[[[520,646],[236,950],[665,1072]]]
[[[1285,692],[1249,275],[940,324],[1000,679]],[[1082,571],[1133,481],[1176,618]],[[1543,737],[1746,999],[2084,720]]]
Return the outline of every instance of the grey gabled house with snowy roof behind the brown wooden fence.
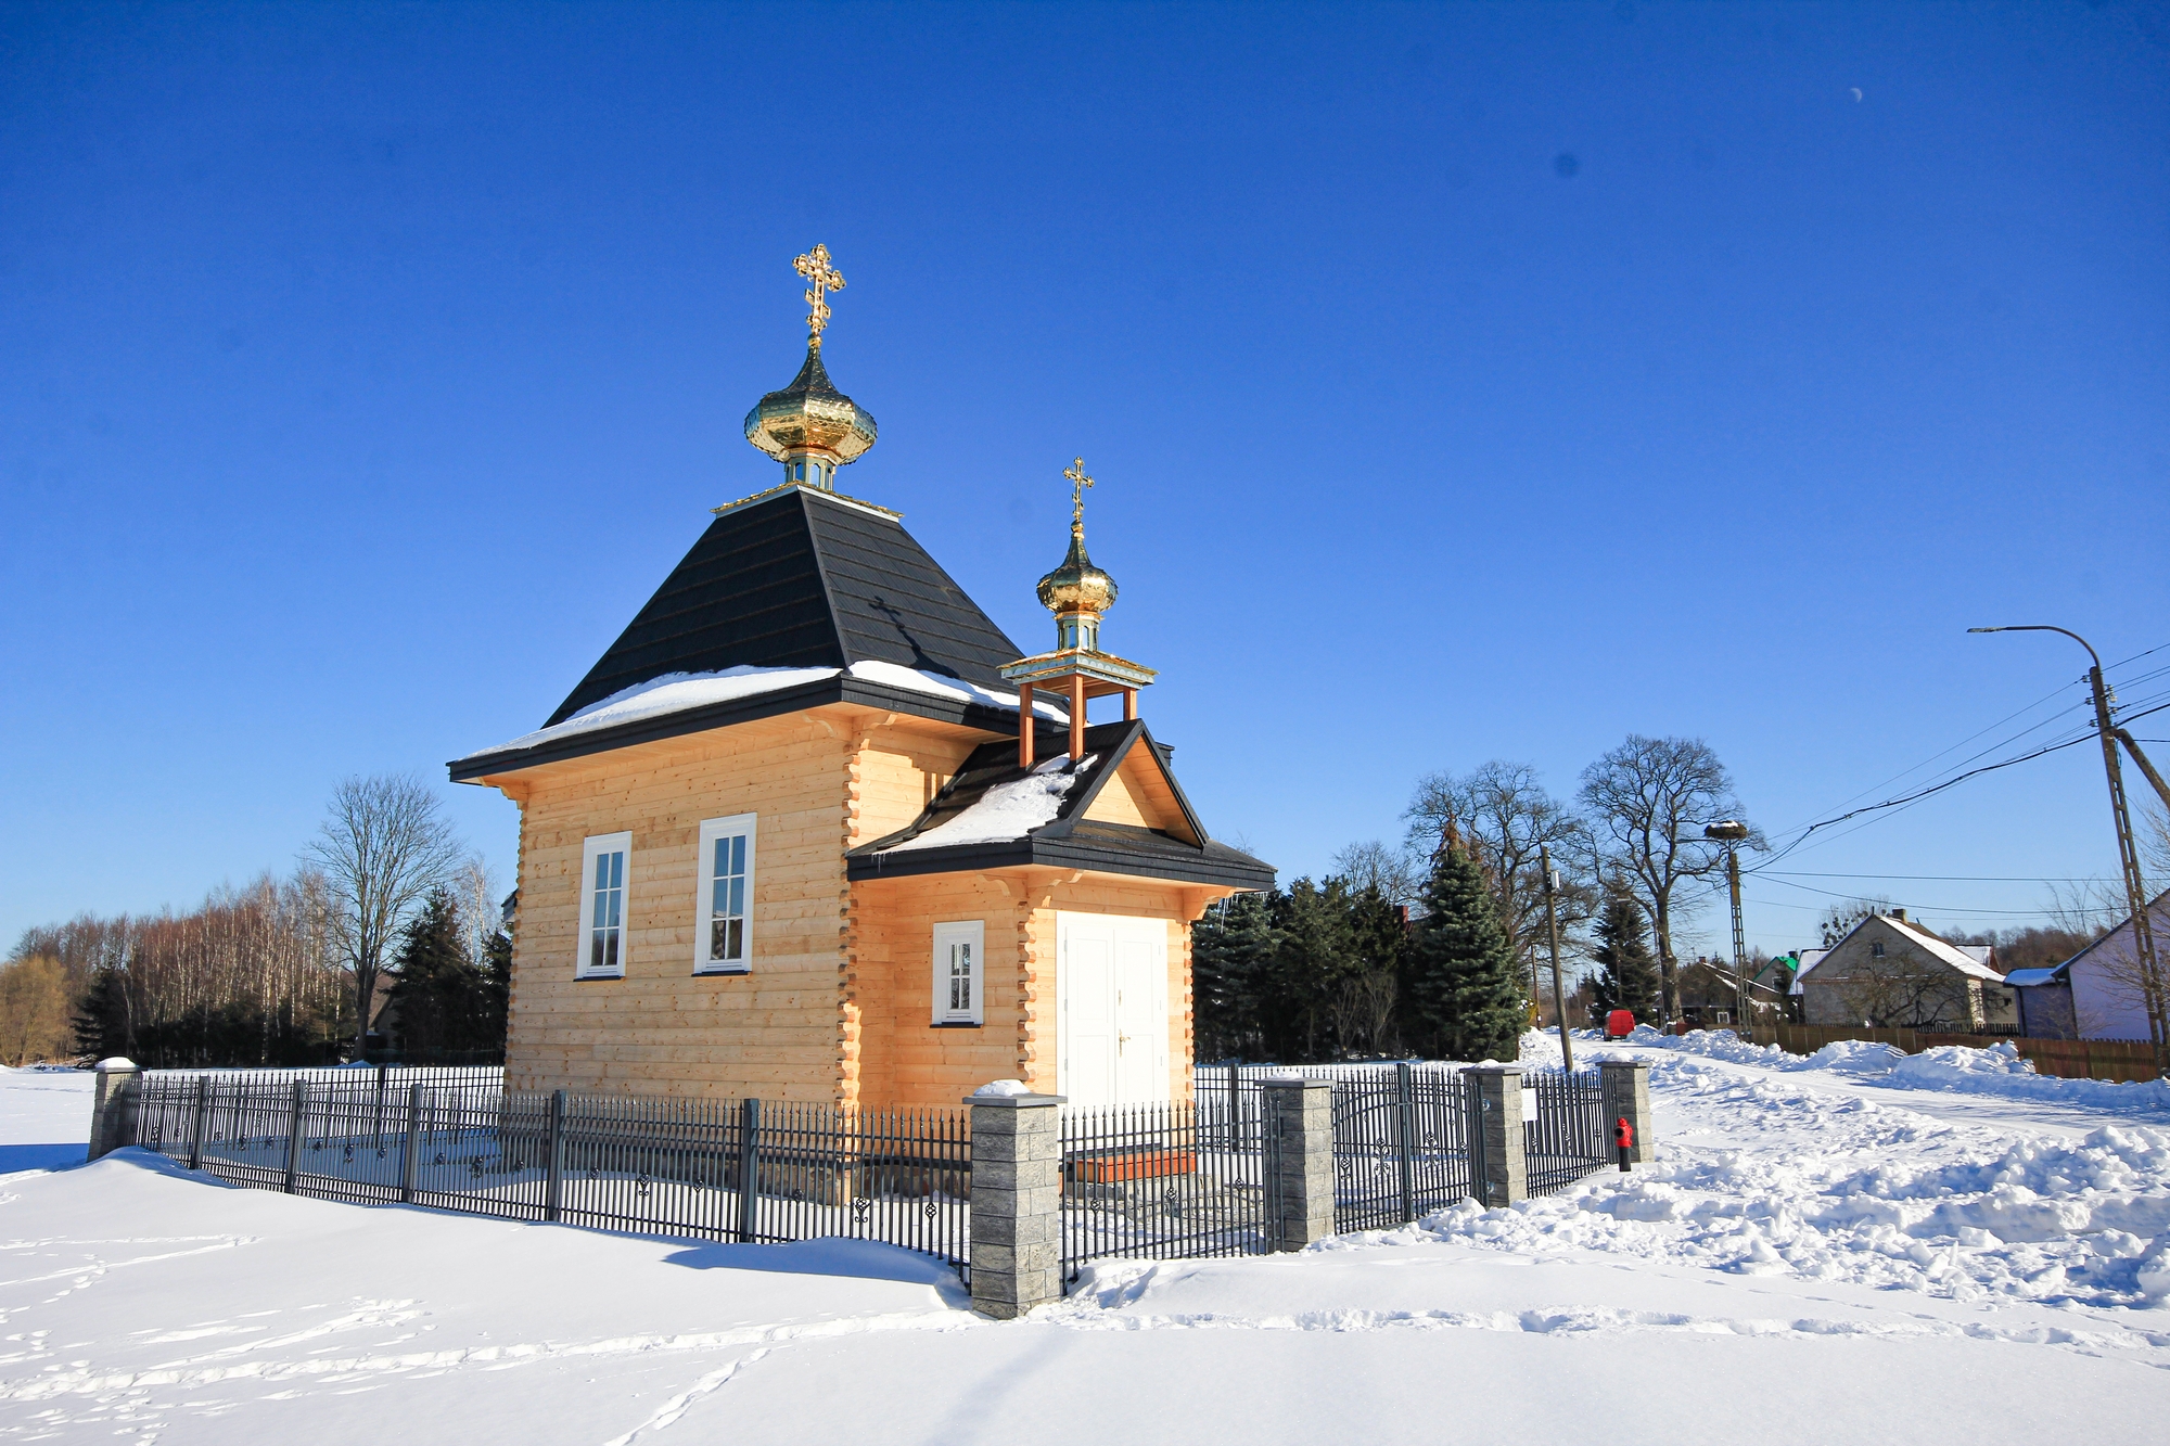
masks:
[[[1797,988],[1808,1025],[1944,1033],[2018,1027],[1994,953],[1944,942],[1910,923],[1905,910],[1871,914],[1829,949],[1803,951]]]

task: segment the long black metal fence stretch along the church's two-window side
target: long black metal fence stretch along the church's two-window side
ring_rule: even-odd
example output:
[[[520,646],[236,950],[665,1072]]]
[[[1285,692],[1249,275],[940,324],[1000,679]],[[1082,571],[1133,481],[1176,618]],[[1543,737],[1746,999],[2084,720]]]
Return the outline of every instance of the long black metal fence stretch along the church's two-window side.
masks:
[[[883,1240],[963,1264],[963,1109],[514,1092],[501,1070],[141,1079],[137,1144],[237,1185],[595,1229]]]

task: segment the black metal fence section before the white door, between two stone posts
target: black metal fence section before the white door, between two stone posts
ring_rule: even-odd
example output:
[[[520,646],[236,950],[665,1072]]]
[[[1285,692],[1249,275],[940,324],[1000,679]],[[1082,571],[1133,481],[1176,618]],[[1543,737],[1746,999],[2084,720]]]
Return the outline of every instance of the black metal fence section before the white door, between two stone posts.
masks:
[[[1109,1255],[1196,1259],[1274,1248],[1272,1099],[1061,1112],[1061,1270]]]

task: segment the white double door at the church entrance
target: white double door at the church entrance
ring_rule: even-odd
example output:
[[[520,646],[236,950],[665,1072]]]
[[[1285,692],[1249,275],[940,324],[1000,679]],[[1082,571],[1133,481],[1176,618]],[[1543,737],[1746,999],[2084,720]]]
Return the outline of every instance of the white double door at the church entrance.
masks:
[[[1055,914],[1057,1090],[1072,1105],[1148,1105],[1167,1090],[1167,925]]]

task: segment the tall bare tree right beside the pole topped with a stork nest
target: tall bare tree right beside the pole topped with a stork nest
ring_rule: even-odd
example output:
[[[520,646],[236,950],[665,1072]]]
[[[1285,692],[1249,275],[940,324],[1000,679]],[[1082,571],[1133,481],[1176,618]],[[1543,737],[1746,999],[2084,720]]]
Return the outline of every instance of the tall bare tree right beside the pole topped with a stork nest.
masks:
[[[1649,912],[1658,942],[1664,1018],[1680,1018],[1680,960],[1673,925],[1701,899],[1680,895],[1684,881],[1719,873],[1725,851],[1703,838],[1703,825],[1738,819],[1740,801],[1725,764],[1701,738],[1628,740],[1582,771],[1582,808],[1606,873]],[[1766,849],[1762,832],[1745,847]]]

